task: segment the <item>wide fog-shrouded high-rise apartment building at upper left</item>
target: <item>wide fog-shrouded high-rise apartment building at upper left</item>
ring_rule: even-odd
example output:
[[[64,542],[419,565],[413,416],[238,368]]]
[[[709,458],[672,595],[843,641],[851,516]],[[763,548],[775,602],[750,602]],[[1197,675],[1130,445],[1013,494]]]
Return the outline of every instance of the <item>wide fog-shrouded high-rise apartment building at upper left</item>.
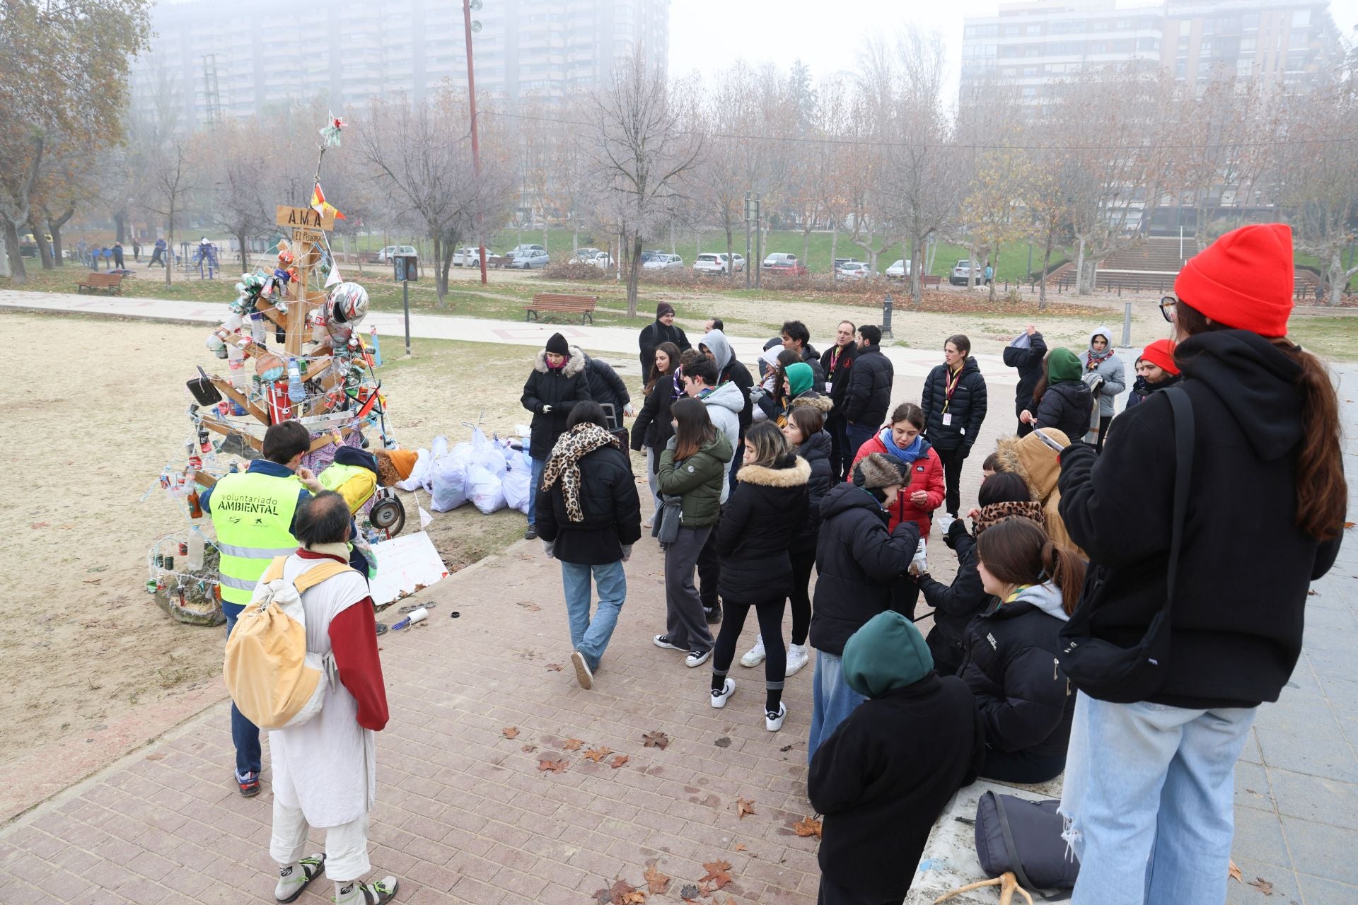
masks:
[[[133,91],[166,85],[183,118],[247,117],[323,96],[338,113],[372,98],[467,85],[459,0],[333,0],[299,16],[273,0],[191,0],[155,8],[152,49]],[[603,84],[615,60],[665,69],[669,0],[483,0],[473,14],[478,95],[555,100]]]

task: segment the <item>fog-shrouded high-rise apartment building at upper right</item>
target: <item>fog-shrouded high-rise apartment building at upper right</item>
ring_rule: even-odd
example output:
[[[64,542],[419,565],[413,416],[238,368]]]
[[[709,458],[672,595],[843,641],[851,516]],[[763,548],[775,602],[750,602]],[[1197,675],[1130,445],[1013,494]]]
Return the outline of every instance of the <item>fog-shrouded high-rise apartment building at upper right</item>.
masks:
[[[1158,62],[1180,80],[1315,79],[1342,54],[1328,0],[1027,0],[963,26],[961,84],[998,77],[1038,103],[1085,66]]]

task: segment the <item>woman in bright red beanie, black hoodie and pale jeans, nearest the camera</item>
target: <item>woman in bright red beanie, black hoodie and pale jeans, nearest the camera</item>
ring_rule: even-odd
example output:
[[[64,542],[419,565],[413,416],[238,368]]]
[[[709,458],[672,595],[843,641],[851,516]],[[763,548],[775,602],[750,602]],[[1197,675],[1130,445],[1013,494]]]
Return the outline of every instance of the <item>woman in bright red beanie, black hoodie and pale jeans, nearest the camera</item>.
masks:
[[[1097,468],[1080,444],[1061,455],[1093,636],[1135,646],[1173,594],[1158,689],[1130,704],[1078,695],[1061,803],[1081,862],[1076,905],[1142,889],[1149,902],[1225,900],[1236,758],[1297,665],[1306,590],[1334,564],[1348,499],[1335,388],[1287,339],[1291,229],[1224,235],[1175,294],[1183,380],[1171,392],[1192,403],[1194,457],[1173,589],[1168,393],[1119,418]]]

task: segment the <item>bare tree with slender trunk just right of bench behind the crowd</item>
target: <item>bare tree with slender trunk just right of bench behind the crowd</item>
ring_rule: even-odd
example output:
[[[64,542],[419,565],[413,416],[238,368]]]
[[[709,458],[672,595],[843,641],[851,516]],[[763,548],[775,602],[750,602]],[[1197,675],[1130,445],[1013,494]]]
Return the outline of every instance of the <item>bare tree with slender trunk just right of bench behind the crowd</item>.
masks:
[[[596,92],[593,144],[587,159],[602,204],[627,237],[627,316],[637,313],[641,244],[655,235],[683,195],[702,140],[683,128],[659,69],[634,56],[621,61]]]

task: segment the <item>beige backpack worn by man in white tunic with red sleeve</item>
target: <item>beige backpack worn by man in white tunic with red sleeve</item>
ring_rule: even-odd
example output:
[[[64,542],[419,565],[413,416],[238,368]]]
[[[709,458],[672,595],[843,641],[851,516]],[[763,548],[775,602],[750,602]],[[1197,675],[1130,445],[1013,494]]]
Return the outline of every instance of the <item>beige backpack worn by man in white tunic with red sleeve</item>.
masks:
[[[349,566],[326,559],[289,582],[282,577],[287,560],[277,556],[269,564],[227,639],[227,691],[259,729],[300,726],[319,714],[334,672],[329,655],[307,653],[301,593]]]

